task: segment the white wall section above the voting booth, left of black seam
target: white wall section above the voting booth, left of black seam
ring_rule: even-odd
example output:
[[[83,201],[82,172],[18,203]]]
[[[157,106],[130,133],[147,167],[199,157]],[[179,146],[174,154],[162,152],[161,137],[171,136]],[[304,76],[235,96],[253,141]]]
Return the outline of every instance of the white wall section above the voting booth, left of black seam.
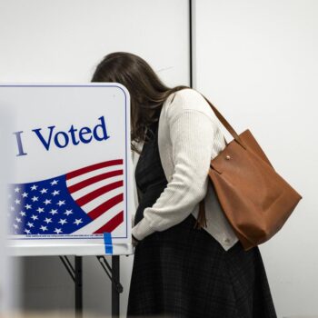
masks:
[[[0,81],[90,80],[102,57],[129,51],[166,84],[188,83],[184,0],[1,0]]]

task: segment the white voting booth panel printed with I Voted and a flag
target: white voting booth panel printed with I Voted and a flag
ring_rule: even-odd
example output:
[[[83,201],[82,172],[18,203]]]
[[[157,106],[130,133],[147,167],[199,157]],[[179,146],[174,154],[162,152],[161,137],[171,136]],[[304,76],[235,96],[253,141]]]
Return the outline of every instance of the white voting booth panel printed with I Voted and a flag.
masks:
[[[134,253],[130,95],[122,84],[1,84],[14,255]]]

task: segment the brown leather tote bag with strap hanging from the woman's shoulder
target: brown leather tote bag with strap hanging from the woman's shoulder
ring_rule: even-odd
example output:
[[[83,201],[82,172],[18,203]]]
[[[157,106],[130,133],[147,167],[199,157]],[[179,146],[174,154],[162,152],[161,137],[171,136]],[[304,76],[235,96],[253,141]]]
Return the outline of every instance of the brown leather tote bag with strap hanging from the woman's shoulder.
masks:
[[[225,140],[225,148],[211,160],[209,180],[234,233],[248,251],[273,237],[303,196],[274,170],[249,129],[236,134],[214,105],[204,99],[234,137],[229,144]],[[201,224],[206,226],[204,200],[195,227]]]

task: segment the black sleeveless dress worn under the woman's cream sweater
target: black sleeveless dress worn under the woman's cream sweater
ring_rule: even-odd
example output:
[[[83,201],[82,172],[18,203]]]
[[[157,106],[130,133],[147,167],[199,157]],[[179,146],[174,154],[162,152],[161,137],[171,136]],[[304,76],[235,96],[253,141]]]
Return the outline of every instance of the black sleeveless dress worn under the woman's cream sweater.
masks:
[[[148,129],[151,141],[135,168],[140,197],[134,224],[167,184],[157,130],[158,122]],[[237,242],[225,251],[194,224],[190,214],[135,246],[127,317],[277,318],[259,248],[245,252]]]

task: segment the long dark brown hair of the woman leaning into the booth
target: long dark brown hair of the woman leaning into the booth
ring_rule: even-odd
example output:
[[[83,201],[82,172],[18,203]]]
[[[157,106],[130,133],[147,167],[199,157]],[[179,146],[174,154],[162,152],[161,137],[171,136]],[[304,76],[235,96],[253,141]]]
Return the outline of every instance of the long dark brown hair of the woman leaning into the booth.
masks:
[[[190,88],[166,86],[143,58],[128,52],[105,55],[96,66],[91,82],[116,82],[127,88],[131,101],[131,148],[138,154],[133,141],[145,140],[145,131],[158,120],[156,114],[165,99],[169,94]]]

